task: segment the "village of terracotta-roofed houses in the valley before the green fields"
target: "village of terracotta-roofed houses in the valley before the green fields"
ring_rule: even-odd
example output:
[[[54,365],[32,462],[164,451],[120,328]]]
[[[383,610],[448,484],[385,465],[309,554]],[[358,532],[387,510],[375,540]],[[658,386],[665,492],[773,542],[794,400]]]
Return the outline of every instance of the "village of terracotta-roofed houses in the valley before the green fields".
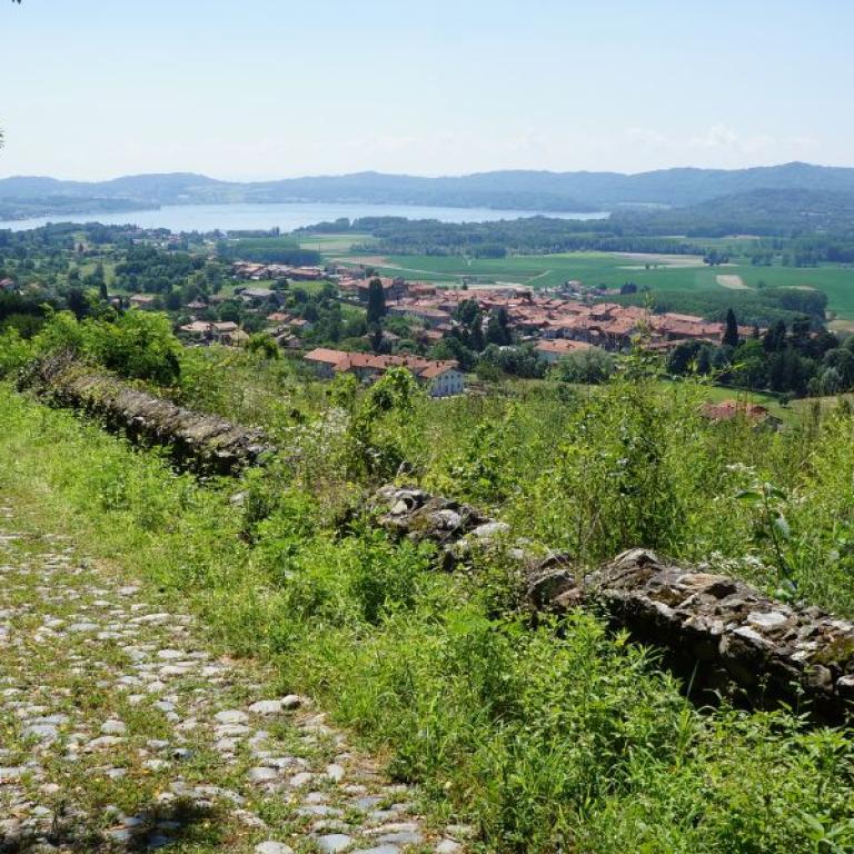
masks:
[[[458,395],[465,390],[465,374],[449,359],[430,359],[411,352],[365,352],[307,346],[302,336],[312,328],[311,320],[298,311],[285,310],[281,288],[267,287],[272,282],[326,281],[336,288],[344,305],[364,309],[373,287],[383,289],[384,311],[389,318],[403,318],[414,329],[413,338],[424,349],[439,344],[458,328],[459,308],[475,302],[486,319],[495,312],[506,318],[515,341],[529,345],[543,361],[553,366],[569,354],[599,348],[619,352],[643,338],[651,350],[667,351],[683,341],[719,345],[726,331],[723,322],[684,314],[654,314],[648,308],[604,301],[602,295],[585,291],[579,281],[567,281],[564,287],[534,290],[520,285],[491,287],[438,287],[429,281],[408,281],[403,277],[376,276],[369,268],[320,266],[289,267],[280,264],[236,261],[231,272],[240,285],[234,299],[245,310],[264,316],[266,331],[285,350],[301,354],[304,361],[320,377],[352,374],[363,383],[371,383],[395,367],[408,368],[435,397]],[[288,285],[289,286],[289,285]],[[606,299],[607,297],[605,297]],[[202,314],[209,304],[222,302],[224,295],[211,296],[208,302],[196,300],[187,310]],[[153,299],[145,295],[130,298],[138,308],[150,308]],[[191,345],[245,345],[249,334],[236,321],[205,320],[191,315],[179,329]],[[755,335],[752,327],[739,326],[738,335]],[[368,336],[365,336],[366,339]],[[394,342],[398,336],[383,331],[383,341]]]

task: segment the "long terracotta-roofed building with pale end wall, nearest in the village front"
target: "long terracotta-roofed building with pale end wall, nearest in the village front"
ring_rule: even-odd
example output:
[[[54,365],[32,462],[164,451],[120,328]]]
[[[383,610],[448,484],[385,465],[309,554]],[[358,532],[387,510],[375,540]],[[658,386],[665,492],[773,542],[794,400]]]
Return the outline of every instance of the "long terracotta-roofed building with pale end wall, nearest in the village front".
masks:
[[[465,378],[456,361],[436,361],[419,356],[376,356],[369,352],[346,352],[325,347],[307,352],[306,361],[319,377],[352,374],[364,383],[373,383],[390,368],[407,368],[433,397],[463,393]]]

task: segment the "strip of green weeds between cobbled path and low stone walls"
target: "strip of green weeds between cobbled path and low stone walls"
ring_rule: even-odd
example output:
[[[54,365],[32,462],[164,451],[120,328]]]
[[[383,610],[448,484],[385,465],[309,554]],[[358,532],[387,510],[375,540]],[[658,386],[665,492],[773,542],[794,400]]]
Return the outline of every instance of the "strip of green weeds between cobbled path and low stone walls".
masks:
[[[296,484],[201,486],[6,387],[0,421],[3,493],[180,593],[225,647],[274,661],[437,810],[467,813],[486,851],[854,846],[843,733],[699,714],[590,617],[523,626],[500,563],[436,574],[427,550],[368,525],[336,534],[332,507]]]

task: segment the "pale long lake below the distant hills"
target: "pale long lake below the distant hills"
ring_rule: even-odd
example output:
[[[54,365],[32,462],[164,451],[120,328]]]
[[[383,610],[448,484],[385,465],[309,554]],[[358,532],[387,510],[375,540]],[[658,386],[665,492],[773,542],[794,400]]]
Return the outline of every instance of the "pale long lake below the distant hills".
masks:
[[[546,212],[533,210],[491,210],[489,208],[433,208],[417,205],[360,205],[357,202],[282,202],[279,205],[168,205],[159,210],[129,210],[123,214],[64,214],[32,219],[0,221],[0,228],[23,231],[48,222],[102,222],[121,226],[132,224],[141,228],[168,228],[171,231],[231,231],[239,229],[269,229],[278,226],[282,231],[311,226],[341,217],[406,217],[407,219],[438,219],[441,222],[490,222],[498,219],[518,219],[538,214],[559,219],[603,219],[608,215]]]

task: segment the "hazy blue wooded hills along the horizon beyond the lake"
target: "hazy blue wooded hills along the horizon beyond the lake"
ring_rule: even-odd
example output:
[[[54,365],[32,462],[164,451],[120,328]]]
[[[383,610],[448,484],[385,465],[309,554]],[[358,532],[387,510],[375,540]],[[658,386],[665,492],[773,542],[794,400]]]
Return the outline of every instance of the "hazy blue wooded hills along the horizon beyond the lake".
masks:
[[[88,197],[142,205],[350,201],[590,211],[613,210],[619,205],[693,206],[753,190],[854,192],[854,168],[795,162],[637,175],[517,170],[441,178],[357,172],[251,183],[219,181],[190,172],[97,182],[16,177],[0,180],[0,201]]]

